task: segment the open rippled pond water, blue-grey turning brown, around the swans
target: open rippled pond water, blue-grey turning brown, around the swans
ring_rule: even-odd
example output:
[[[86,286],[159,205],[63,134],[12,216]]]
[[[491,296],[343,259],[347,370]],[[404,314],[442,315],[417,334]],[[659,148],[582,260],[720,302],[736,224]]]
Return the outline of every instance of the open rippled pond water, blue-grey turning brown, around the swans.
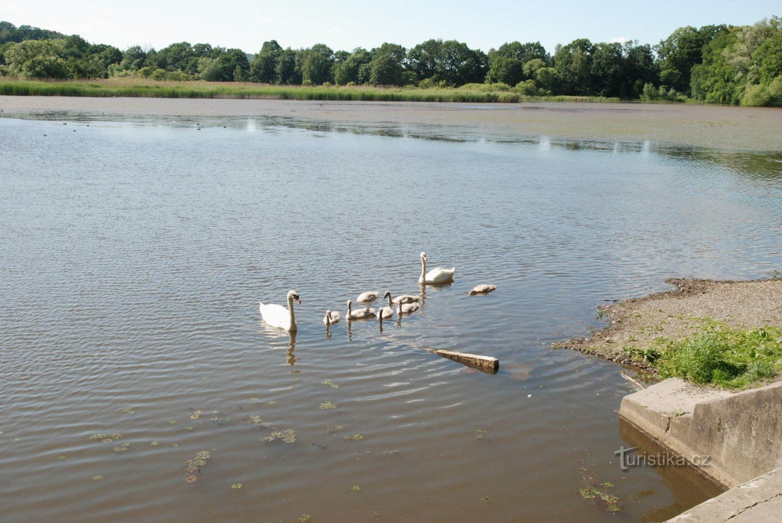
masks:
[[[0,152],[3,523],[662,521],[719,492],[621,471],[631,384],[551,342],[780,268],[778,153],[80,113],[2,118]],[[421,251],[456,276],[420,313],[325,330],[418,293]],[[289,289],[295,336],[258,311]],[[619,512],[579,493],[606,482]]]

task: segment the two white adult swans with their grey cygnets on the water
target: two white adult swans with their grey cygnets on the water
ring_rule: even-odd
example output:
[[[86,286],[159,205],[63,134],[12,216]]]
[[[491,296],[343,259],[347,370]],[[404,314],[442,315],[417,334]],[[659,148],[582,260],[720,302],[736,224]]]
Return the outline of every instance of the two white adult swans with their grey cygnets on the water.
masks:
[[[427,272],[426,261],[426,253],[421,253],[421,277],[418,278],[418,283],[420,285],[437,285],[439,283],[446,283],[447,281],[454,279],[456,267],[451,267],[450,269],[437,267],[436,269],[432,269]],[[469,292],[469,295],[475,296],[478,294],[488,294],[496,288],[496,285],[478,285]],[[356,302],[371,303],[375,301],[375,299],[378,299],[378,296],[380,296],[379,292],[362,292],[357,297]],[[378,308],[378,310],[375,310],[371,307],[361,307],[353,310],[353,302],[350,299],[347,300],[347,313],[345,317],[349,326],[351,320],[364,320],[372,317],[377,317],[378,321],[380,321],[382,324],[383,320],[387,320],[388,318],[393,317],[394,305],[396,305],[397,316],[414,313],[421,307],[420,296],[404,294],[401,296],[396,296],[396,298],[393,299],[391,292],[386,291],[386,293],[383,294],[383,299],[388,300],[388,305],[382,306]],[[293,311],[294,301],[296,301],[296,303],[301,303],[301,300],[299,299],[299,293],[296,291],[288,292],[287,309],[281,305],[264,304],[263,302],[260,302],[260,316],[268,325],[271,325],[272,327],[282,328],[285,329],[285,331],[294,332],[297,329],[296,314]],[[335,310],[327,310],[325,316],[323,317],[323,324],[325,324],[326,328],[328,329],[330,325],[339,323],[339,320],[339,312]]]

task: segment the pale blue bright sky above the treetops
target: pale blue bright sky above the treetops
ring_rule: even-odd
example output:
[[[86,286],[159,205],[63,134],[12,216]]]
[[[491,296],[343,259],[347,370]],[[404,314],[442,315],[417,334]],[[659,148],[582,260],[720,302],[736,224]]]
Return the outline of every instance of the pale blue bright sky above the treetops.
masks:
[[[676,27],[743,25],[772,15],[782,16],[780,0],[0,0],[0,20],[81,34],[88,41],[122,49],[137,44],[161,48],[189,41],[246,52],[257,52],[269,39],[283,47],[325,43],[335,50],[351,50],[376,47],[384,41],[410,48],[429,38],[465,41],[484,51],[506,41],[540,41],[554,52],[554,45],[576,38],[630,38],[655,44]]]

